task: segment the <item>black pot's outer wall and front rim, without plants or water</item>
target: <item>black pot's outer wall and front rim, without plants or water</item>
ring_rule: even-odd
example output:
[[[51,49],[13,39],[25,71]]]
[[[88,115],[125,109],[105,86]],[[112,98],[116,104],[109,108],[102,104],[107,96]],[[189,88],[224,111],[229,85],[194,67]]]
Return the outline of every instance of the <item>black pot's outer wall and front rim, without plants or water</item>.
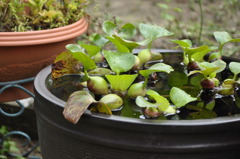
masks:
[[[36,77],[35,111],[43,159],[237,159],[240,116],[155,121],[86,112],[74,125],[65,102],[45,86],[50,66]]]

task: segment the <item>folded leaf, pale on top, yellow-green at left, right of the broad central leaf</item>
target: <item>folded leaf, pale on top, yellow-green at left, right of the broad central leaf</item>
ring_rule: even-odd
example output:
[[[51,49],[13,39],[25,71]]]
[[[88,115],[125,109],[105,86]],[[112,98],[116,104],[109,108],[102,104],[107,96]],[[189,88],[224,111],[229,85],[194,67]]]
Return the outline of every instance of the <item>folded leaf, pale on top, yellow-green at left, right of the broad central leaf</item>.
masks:
[[[145,78],[147,78],[150,74],[152,74],[154,72],[170,73],[171,71],[174,71],[172,66],[164,64],[164,63],[157,63],[157,64],[154,64],[153,66],[151,66],[147,70],[140,70],[139,73],[142,76],[144,76]]]

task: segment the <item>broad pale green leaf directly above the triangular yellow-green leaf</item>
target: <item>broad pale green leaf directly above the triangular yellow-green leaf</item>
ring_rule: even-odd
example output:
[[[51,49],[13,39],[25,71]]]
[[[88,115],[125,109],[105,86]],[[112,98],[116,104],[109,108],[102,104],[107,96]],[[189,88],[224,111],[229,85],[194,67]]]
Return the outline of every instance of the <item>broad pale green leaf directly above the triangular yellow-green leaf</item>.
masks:
[[[103,53],[111,69],[117,74],[129,71],[135,63],[135,56],[127,52],[104,50]]]

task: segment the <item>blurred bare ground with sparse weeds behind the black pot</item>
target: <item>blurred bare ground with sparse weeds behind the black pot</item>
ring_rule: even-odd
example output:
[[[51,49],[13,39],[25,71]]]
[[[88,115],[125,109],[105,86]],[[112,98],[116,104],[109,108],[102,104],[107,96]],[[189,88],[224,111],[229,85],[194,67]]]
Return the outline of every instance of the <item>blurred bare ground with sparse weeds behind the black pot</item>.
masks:
[[[233,38],[240,37],[239,0],[95,0],[93,4],[88,35],[98,31],[103,21],[112,20],[118,25],[152,23],[174,32],[174,36],[154,42],[154,48],[160,49],[173,49],[174,44],[169,39],[190,39],[195,45],[217,45],[214,31],[227,31]],[[225,50],[226,56],[240,56],[238,43],[226,45]]]

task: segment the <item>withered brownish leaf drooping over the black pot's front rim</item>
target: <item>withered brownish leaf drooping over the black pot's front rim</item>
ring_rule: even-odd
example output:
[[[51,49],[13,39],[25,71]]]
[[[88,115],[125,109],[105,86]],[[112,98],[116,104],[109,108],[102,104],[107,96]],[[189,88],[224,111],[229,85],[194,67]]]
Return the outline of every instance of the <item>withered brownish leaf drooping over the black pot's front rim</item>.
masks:
[[[76,91],[69,96],[63,115],[69,122],[76,124],[93,102],[95,99],[87,91]]]

